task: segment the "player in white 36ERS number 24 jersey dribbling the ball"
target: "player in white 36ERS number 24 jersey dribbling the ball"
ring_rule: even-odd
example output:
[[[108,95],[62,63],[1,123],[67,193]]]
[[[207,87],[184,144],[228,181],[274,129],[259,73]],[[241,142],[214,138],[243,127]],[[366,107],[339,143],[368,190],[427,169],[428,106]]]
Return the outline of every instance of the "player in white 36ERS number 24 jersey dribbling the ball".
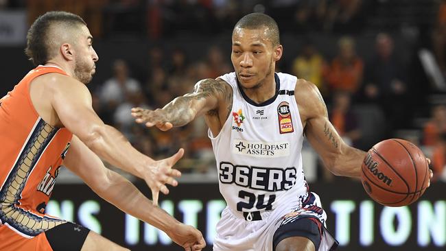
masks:
[[[338,176],[360,177],[366,153],[342,141],[314,84],[274,73],[282,52],[277,23],[248,14],[233,29],[235,72],[199,81],[193,93],[162,109],[132,109],[138,123],[161,130],[205,116],[228,204],[217,224],[215,251],[337,246],[325,229],[320,199],[304,179],[303,136]]]

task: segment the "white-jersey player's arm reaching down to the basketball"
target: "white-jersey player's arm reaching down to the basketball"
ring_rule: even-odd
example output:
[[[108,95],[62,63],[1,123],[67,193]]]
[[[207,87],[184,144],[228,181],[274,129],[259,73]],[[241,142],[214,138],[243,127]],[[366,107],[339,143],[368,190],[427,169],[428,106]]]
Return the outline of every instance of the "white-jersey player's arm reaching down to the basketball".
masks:
[[[318,88],[305,80],[296,84],[296,102],[305,126],[305,136],[325,166],[338,176],[359,177],[366,153],[349,147],[328,119]]]

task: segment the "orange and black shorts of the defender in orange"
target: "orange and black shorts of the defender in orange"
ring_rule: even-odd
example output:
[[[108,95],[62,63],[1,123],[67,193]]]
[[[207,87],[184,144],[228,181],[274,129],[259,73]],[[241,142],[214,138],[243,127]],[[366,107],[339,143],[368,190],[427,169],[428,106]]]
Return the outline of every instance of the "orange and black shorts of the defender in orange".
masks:
[[[27,238],[7,226],[0,226],[0,250],[80,251],[89,232],[88,228],[67,222]]]

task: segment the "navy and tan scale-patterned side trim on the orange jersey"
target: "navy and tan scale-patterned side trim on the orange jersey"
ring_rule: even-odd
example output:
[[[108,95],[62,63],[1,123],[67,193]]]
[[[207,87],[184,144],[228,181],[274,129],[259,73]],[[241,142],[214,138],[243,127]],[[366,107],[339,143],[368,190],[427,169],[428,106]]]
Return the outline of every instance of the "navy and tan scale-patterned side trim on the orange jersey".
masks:
[[[10,213],[11,211],[15,211],[15,212],[19,212],[21,215],[25,215],[27,218],[34,219],[36,221],[41,221],[43,219],[42,217],[33,215],[30,212],[23,211],[23,209],[18,208],[16,205],[20,204],[19,200],[21,199],[21,193],[23,191],[23,188],[25,187],[27,179],[29,178],[32,170],[36,166],[38,159],[43,154],[43,151],[45,150],[45,148],[47,147],[49,142],[51,142],[51,139],[54,138],[54,136],[56,135],[56,132],[58,132],[58,130],[59,130],[59,128],[51,128],[51,131],[47,132],[48,135],[46,138],[39,139],[40,134],[43,132],[43,130],[45,130],[45,125],[47,125],[47,123],[45,121],[43,121],[43,119],[39,118],[39,121],[37,122],[37,125],[34,128],[32,134],[30,136],[30,139],[28,139],[28,141],[25,143],[25,147],[23,147],[23,151],[21,152],[14,167],[12,167],[12,170],[10,171],[8,178],[6,178],[5,183],[3,184],[3,187],[1,187],[1,190],[0,190],[0,203],[1,203],[1,205],[0,205],[0,219],[1,219],[1,222],[3,222],[3,224],[8,223],[13,228],[16,228],[20,232],[23,232],[25,235],[30,235],[30,236],[38,235],[42,231],[38,232],[36,230],[29,230],[29,228],[24,227],[22,224],[18,224],[16,222],[16,219],[18,219],[18,217],[15,217],[14,219],[12,219],[12,218],[8,218],[6,216],[6,214]],[[40,145],[38,145],[38,147],[37,147],[36,143],[38,143]],[[30,152],[33,150],[33,147],[34,147],[36,154],[32,155],[31,156],[32,158],[29,158]],[[19,174],[19,170],[20,170],[21,165],[25,162],[25,160],[29,161],[30,165],[29,165],[29,170],[27,170],[27,172],[24,174],[24,177],[22,177]],[[21,175],[23,175],[23,174],[21,174]],[[20,180],[20,183],[17,180]],[[14,182],[16,184],[14,184]],[[17,183],[19,183],[18,188],[16,187]],[[14,186],[13,186],[13,184],[14,184]],[[12,194],[13,191],[14,191],[14,194]],[[7,200],[8,197],[9,198],[12,197],[12,201]],[[56,220],[51,219],[51,221],[56,221]],[[57,221],[60,221],[60,220],[57,220]]]

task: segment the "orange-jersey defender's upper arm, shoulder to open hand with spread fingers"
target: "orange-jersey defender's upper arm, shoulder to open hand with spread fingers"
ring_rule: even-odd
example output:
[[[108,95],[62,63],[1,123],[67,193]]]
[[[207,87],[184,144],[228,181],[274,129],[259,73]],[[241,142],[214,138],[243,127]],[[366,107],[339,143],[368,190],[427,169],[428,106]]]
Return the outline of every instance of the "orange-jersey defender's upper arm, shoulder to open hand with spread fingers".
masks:
[[[61,74],[49,75],[51,106],[64,127],[108,163],[143,178],[154,193],[154,201],[161,191],[169,193],[164,184],[176,186],[180,171],[172,166],[183,156],[155,161],[138,152],[126,137],[115,128],[104,124],[92,107],[91,94],[84,84]]]

